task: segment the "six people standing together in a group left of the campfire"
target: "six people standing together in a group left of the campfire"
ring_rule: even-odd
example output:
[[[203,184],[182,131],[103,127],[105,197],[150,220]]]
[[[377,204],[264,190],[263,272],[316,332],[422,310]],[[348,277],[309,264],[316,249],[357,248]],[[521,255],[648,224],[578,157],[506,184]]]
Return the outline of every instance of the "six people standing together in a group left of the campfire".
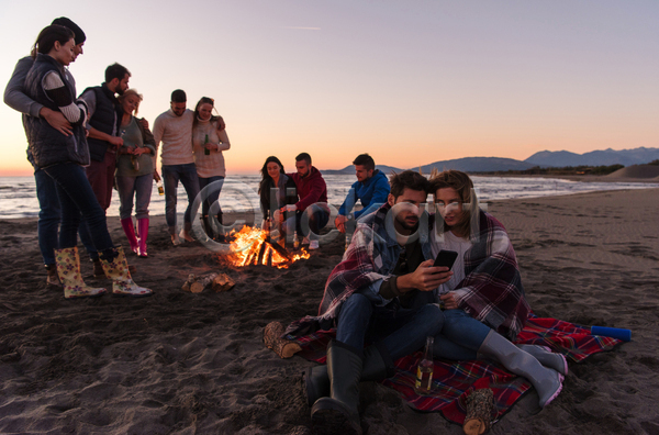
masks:
[[[219,237],[209,214],[222,222],[216,200],[225,176],[222,152],[231,144],[224,121],[212,113],[213,99],[204,97],[194,111],[187,110],[186,93],[180,89],[172,92],[171,108],[156,119],[152,134],[148,122],[135,116],[143,97],[129,89],[131,72],[116,63],[105,69],[103,83],[76,97],[76,81],[66,67],[83,53],[85,41],[85,32],[71,20],[54,20],[38,34],[31,55],[19,60],[4,91],[4,102],[23,113],[27,159],[34,167],[40,201],[38,242],[47,283],[63,287],[67,299],[105,292],[82,280],[79,233],[93,261],[94,277],[112,278],[114,294],[149,295],[150,289],[132,280],[135,269],[108,232],[105,212],[112,189],[119,192],[121,224],[131,249],[147,257],[148,205],[153,182],[160,181],[156,157],[161,142],[172,242],[192,241],[190,209],[200,189],[209,185],[214,189],[202,205],[202,220],[206,234]],[[176,231],[179,180],[189,200],[180,233]]]

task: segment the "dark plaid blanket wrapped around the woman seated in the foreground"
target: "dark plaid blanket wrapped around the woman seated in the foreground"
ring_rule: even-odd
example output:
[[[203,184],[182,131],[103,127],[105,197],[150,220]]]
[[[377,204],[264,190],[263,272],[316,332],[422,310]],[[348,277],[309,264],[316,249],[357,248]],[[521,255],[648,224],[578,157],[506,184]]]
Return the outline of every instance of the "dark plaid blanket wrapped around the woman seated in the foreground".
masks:
[[[458,306],[501,335],[514,341],[530,311],[515,250],[501,222],[480,211],[472,227],[471,248],[465,254],[465,279],[454,291]],[[433,253],[443,239],[433,234]]]

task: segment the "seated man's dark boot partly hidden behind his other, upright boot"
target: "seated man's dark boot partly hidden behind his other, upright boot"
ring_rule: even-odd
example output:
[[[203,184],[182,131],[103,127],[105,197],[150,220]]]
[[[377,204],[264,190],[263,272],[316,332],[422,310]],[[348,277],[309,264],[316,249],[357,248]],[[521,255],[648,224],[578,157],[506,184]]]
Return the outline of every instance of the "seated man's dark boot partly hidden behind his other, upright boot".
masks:
[[[377,343],[364,349],[364,365],[361,369],[361,381],[379,381],[391,378],[395,369],[389,352]],[[313,406],[316,400],[330,395],[330,376],[327,366],[312,366],[302,375],[304,380],[304,393],[306,404]]]

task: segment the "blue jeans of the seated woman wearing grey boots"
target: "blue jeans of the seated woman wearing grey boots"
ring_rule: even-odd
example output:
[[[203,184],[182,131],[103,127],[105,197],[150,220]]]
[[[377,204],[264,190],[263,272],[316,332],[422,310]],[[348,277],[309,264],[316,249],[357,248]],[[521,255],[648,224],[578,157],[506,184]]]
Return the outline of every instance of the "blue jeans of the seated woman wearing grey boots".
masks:
[[[490,333],[491,327],[463,310],[444,311],[444,327],[435,335],[433,355],[436,358],[470,360]],[[459,343],[459,344],[458,344]]]

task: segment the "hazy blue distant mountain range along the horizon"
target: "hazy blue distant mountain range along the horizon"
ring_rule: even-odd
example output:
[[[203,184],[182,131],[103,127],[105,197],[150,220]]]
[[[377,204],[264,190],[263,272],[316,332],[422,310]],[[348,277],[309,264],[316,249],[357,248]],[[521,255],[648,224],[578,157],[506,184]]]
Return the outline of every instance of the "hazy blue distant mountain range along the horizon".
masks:
[[[566,166],[611,166],[611,165],[643,165],[659,159],[659,148],[634,148],[634,149],[603,149],[585,154],[576,154],[566,150],[561,152],[539,152],[528,157],[526,160],[515,160],[513,158],[501,157],[465,157],[454,160],[440,160],[421,166],[424,174],[429,174],[433,168],[438,170],[457,169],[465,172],[493,172],[506,170],[525,170],[535,166],[543,168]],[[404,169],[387,165],[376,165],[389,175],[391,171],[400,172]],[[407,168],[418,169],[418,167]],[[355,174],[353,165],[343,169],[325,169],[322,171],[327,175]]]

